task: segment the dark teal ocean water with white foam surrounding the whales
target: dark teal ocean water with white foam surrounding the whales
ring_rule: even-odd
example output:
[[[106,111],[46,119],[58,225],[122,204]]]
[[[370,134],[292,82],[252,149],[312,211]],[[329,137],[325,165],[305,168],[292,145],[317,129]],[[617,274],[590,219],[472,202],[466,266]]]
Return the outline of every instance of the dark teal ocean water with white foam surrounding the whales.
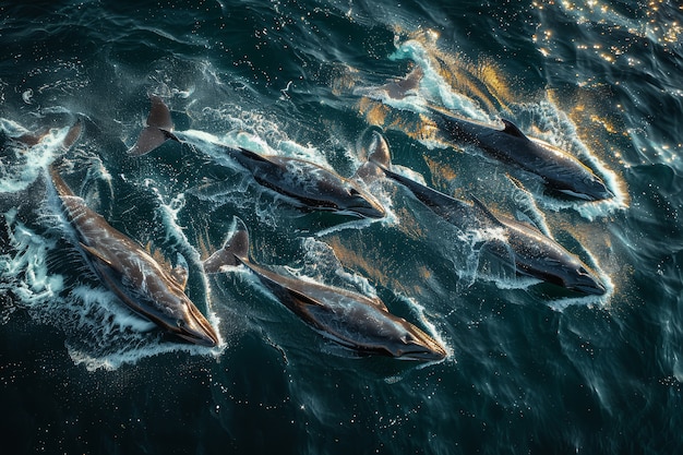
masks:
[[[683,10],[673,1],[0,2],[0,404],[8,453],[673,454],[683,448]],[[382,86],[416,65],[400,100]],[[127,155],[148,96],[185,144]],[[558,199],[434,103],[515,121],[590,166],[604,202]],[[83,123],[65,151],[67,131]],[[382,220],[314,213],[215,143],[351,177],[384,129],[395,169],[530,220],[604,296],[518,279],[399,185]],[[28,146],[15,137],[39,133]],[[189,270],[220,336],[188,346],[87,268],[47,166]],[[520,185],[514,183],[520,182]],[[233,217],[261,264],[382,298],[440,362],[358,357],[245,271],[206,276]]]

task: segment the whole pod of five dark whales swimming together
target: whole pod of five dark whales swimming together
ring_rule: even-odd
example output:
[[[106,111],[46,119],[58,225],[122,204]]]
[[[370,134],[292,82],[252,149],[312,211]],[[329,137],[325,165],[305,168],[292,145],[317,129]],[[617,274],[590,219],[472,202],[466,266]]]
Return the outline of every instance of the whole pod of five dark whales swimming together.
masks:
[[[420,76],[421,70],[416,70],[411,76],[387,84],[384,89],[391,97],[405,96],[406,92],[417,89]],[[130,156],[149,153],[168,140],[192,144],[191,132],[173,131],[170,111],[161,98],[151,96],[151,105],[146,125],[129,149]],[[511,122],[504,121],[505,128],[495,130],[433,106],[429,106],[428,111],[452,139],[477,145],[499,159],[542,175],[555,191],[585,200],[611,196],[590,169],[548,144],[526,137]],[[81,128],[77,121],[64,135],[62,149],[68,151],[79,139]],[[28,147],[47,134],[20,133],[10,139]],[[369,129],[361,143],[368,160],[352,179],[298,158],[265,156],[211,141],[200,146],[226,152],[249,170],[256,182],[310,209],[382,218],[384,207],[366,188],[374,179],[391,179],[462,230],[498,229],[502,236],[487,240],[487,248],[502,261],[512,260],[519,275],[586,295],[606,294],[606,287],[588,266],[536,227],[494,214],[475,196],[469,202],[460,201],[393,171],[388,145],[376,129]],[[88,208],[64,182],[57,165],[50,165],[48,173],[62,212],[75,232],[75,244],[104,285],[130,309],[168,333],[193,344],[215,346],[218,334],[184,294],[187,271],[170,270],[157,262],[149,252]],[[233,235],[223,249],[204,262],[205,273],[223,272],[224,266],[247,267],[305,323],[358,352],[411,360],[441,360],[446,356],[439,342],[392,314],[378,298],[285,276],[254,263],[249,255],[247,227],[237,217],[236,224]]]

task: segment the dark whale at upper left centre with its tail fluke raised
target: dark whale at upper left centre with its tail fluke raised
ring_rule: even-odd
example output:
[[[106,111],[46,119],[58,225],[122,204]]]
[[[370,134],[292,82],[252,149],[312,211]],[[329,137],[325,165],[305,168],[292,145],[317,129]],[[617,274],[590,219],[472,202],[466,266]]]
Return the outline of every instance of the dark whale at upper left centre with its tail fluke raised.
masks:
[[[170,110],[163,99],[153,95],[151,104],[146,127],[128,152],[132,156],[147,154],[168,140],[185,142],[181,132],[173,131]],[[295,205],[361,218],[385,216],[382,204],[357,182],[314,163],[261,155],[244,147],[229,147],[217,143],[209,145],[219,147],[221,155],[231,156],[261,185],[296,201]]]

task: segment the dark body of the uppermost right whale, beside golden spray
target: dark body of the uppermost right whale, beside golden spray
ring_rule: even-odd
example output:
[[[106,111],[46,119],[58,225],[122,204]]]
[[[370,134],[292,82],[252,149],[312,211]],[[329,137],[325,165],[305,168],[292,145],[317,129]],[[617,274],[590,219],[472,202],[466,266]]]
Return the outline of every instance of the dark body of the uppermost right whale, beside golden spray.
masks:
[[[576,157],[544,141],[528,137],[507,119],[501,119],[504,128],[496,129],[433,105],[428,104],[426,108],[450,140],[475,145],[498,160],[540,177],[551,192],[585,201],[614,196],[602,179]]]

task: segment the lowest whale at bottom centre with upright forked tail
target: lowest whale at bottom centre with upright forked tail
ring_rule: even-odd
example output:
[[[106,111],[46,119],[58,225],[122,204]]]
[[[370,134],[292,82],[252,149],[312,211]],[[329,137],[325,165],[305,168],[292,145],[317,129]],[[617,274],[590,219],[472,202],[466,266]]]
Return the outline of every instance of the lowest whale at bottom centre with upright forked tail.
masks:
[[[392,314],[379,298],[324,284],[284,276],[249,258],[249,231],[236,217],[236,228],[224,247],[204,261],[215,274],[244,266],[291,312],[325,337],[366,355],[403,360],[445,358],[443,346],[420,328]]]

